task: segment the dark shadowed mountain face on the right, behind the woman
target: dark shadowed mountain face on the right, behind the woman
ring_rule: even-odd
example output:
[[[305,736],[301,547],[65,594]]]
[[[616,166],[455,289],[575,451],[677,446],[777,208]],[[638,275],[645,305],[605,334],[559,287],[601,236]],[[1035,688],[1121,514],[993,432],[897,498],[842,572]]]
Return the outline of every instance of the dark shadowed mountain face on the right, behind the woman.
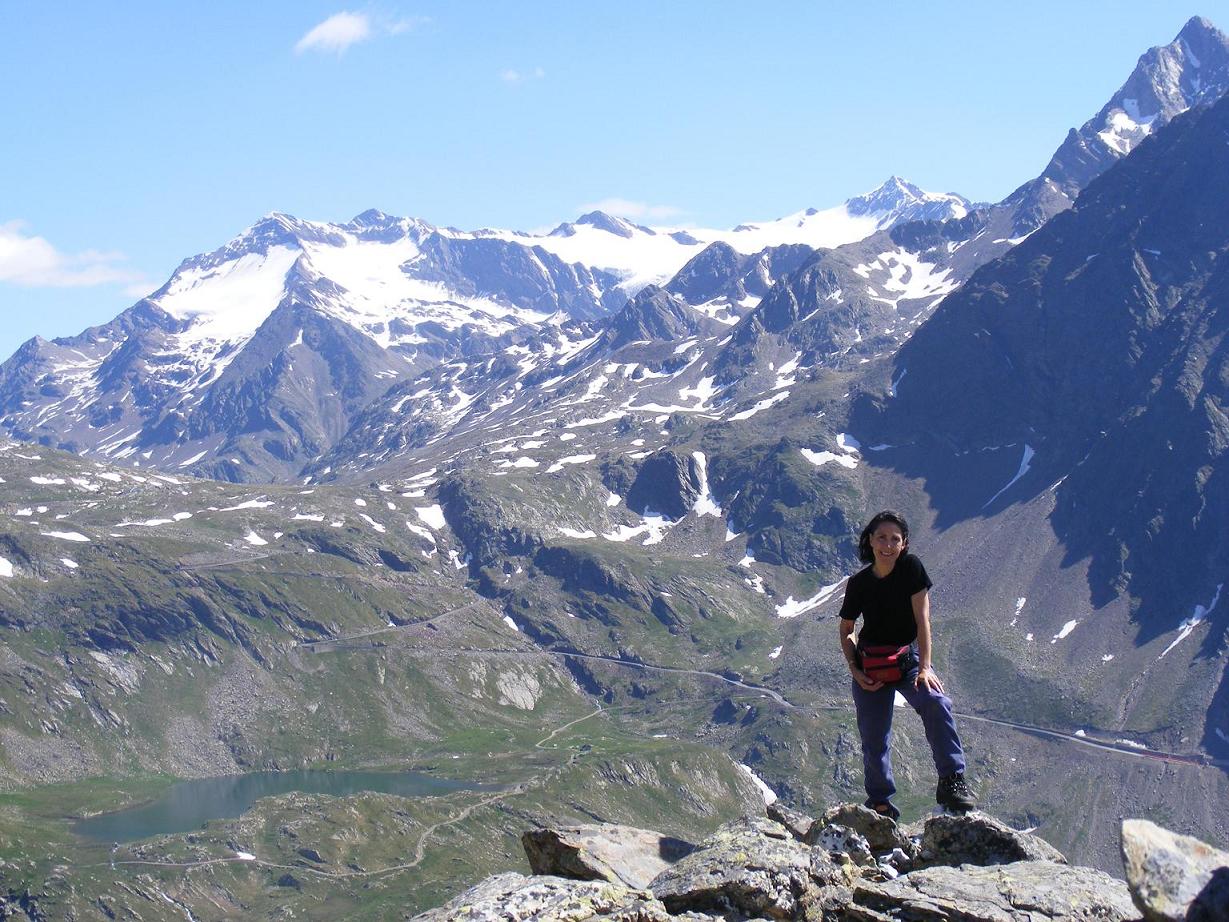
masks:
[[[895,463],[925,478],[941,527],[1054,492],[1064,565],[1090,558],[1095,606],[1139,600],[1141,644],[1182,620],[1229,623],[1214,605],[1229,573],[1227,143],[1229,101],[1147,140],[952,294],[897,354],[895,397],[859,408],[909,445]],[[971,488],[1002,447],[1016,479]]]

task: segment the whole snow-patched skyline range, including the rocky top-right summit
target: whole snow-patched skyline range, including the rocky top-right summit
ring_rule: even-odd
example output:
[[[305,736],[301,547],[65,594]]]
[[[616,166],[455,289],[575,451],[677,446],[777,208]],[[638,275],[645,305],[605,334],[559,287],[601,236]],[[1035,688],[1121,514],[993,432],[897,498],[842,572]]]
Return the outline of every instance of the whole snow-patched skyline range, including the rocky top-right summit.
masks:
[[[397,455],[488,404],[493,418],[527,412],[537,398],[526,388],[580,374],[578,357],[585,386],[596,387],[599,369],[614,361],[597,353],[642,336],[629,318],[616,343],[605,325],[649,286],[673,299],[673,320],[658,329],[713,331],[678,387],[712,376],[720,400],[741,407],[763,400],[763,382],[795,354],[800,368],[832,368],[897,348],[980,266],[1068,208],[1141,138],[1225,87],[1229,39],[1193,18],[1141,58],[1037,179],[991,207],[892,177],[834,208],[724,231],[601,211],[547,234],[460,231],[380,211],[338,225],[269,215],[184,262],[112,323],[26,343],[0,366],[0,425],[23,440],[227,479],[336,470],[329,452],[343,441],[396,444]],[[474,380],[474,369],[509,363],[515,375]],[[655,368],[637,364],[642,376]],[[438,391],[460,377],[457,393],[451,384]],[[624,393],[633,384],[645,392]],[[656,393],[664,386],[651,375],[617,386],[606,375],[602,385],[612,407],[693,406]],[[418,397],[401,402],[407,395]],[[379,436],[351,431],[369,411],[420,403],[419,416],[382,418]],[[347,466],[364,454],[348,452]]]

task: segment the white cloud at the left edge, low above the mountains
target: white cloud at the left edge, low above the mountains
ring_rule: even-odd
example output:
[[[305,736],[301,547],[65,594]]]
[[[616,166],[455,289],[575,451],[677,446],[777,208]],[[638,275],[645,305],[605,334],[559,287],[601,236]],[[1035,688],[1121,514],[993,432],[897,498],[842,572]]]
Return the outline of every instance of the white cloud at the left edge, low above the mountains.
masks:
[[[128,285],[140,297],[156,285],[132,269],[118,266],[123,253],[85,250],[61,253],[45,237],[29,234],[22,221],[0,224],[0,282],[26,288],[85,288]]]

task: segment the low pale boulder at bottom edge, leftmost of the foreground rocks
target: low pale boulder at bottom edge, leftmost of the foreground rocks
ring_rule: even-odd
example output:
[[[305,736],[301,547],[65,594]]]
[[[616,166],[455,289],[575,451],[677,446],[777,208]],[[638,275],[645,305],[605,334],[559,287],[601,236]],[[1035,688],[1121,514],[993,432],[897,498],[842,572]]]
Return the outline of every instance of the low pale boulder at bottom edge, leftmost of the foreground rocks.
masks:
[[[509,872],[487,878],[447,905],[410,922],[673,922],[653,894],[605,880],[568,880]]]

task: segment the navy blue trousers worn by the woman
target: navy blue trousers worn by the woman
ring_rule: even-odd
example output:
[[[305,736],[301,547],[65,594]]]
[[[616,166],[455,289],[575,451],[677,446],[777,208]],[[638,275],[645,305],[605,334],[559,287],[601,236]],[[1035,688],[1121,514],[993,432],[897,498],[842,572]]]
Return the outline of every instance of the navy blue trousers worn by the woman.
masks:
[[[896,692],[905,696],[922,717],[925,738],[930,744],[935,771],[939,776],[965,771],[965,750],[956,735],[956,720],[951,715],[951,698],[923,685],[913,686],[917,670],[903,681],[885,685],[869,692],[853,682],[853,704],[858,712],[858,733],[862,735],[862,768],[866,783],[866,805],[884,804],[896,793],[892,781],[892,711]]]

